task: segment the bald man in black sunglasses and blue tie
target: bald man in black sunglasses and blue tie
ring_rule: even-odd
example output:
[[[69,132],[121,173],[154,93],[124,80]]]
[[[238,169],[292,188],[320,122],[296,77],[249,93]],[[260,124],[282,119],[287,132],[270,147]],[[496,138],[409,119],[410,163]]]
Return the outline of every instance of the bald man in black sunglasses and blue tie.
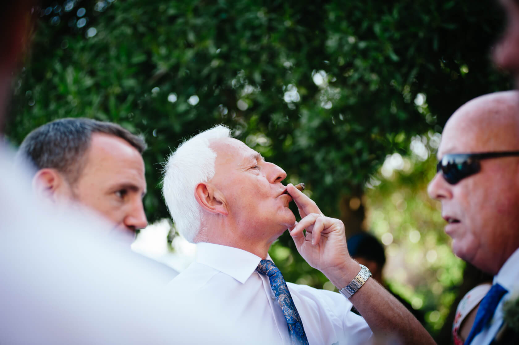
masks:
[[[490,344],[500,329],[511,334],[502,327],[503,303],[519,293],[519,92],[461,106],[445,125],[438,158],[428,192],[442,203],[453,251],[494,275],[465,345]]]

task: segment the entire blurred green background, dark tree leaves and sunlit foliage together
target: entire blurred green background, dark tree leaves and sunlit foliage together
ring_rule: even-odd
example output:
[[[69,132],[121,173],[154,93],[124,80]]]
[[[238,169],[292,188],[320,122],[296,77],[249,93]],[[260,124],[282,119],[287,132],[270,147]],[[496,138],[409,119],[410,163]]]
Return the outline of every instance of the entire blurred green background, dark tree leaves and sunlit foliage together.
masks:
[[[171,149],[225,123],[288,182],[305,182],[348,236],[381,239],[389,286],[450,341],[449,312],[473,274],[426,187],[450,114],[511,88],[490,59],[504,24],[497,1],[66,0],[35,16],[7,123],[13,144],[62,117],[143,133],[153,222],[168,217],[159,182]],[[271,256],[286,280],[333,289],[288,234]]]

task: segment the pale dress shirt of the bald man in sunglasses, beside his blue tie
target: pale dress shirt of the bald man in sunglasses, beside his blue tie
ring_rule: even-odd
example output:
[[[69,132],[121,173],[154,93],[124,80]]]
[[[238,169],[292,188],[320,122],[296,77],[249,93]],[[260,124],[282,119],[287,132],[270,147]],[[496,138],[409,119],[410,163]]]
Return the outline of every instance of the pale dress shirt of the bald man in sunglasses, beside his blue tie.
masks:
[[[503,303],[512,296],[517,298],[519,292],[519,249],[505,261],[497,275],[494,277],[494,284],[498,283],[507,289],[507,293],[503,296],[497,305],[494,317],[488,323],[488,326],[483,328],[480,334],[474,337],[472,345],[488,345],[495,337],[503,323]]]

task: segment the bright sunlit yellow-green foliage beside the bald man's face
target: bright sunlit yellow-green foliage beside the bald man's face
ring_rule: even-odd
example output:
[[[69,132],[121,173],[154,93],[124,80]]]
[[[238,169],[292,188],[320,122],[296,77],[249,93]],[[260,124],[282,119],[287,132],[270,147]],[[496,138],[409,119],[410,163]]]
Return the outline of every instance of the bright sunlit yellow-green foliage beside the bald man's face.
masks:
[[[440,203],[427,195],[436,164],[431,153],[438,143],[439,135],[432,132],[414,137],[412,147],[421,155],[388,159],[372,178],[376,188],[366,192],[368,224],[387,245],[388,285],[425,312],[432,333],[440,330],[453,308],[465,268],[443,231]],[[392,161],[395,169],[391,169]]]

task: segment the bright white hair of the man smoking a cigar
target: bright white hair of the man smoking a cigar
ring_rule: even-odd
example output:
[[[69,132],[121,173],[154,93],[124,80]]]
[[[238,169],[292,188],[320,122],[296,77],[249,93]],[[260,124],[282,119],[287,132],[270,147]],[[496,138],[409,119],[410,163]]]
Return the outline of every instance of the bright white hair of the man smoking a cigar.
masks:
[[[176,230],[189,242],[201,229],[202,208],[195,188],[214,176],[216,152],[209,147],[210,141],[230,136],[228,127],[217,125],[184,141],[165,164],[162,195]]]

